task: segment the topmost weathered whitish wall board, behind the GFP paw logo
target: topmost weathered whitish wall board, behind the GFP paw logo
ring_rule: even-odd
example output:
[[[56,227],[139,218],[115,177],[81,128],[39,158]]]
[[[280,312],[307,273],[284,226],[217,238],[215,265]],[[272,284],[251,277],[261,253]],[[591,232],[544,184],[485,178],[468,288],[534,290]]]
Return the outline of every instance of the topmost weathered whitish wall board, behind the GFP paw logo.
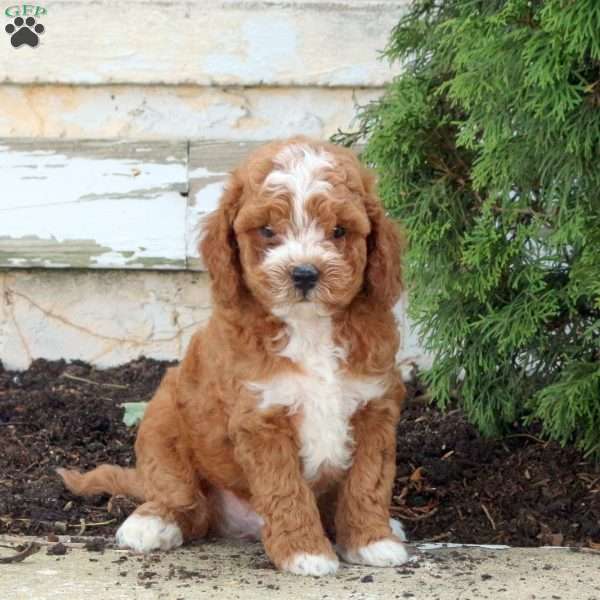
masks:
[[[38,46],[5,39],[0,74],[24,84],[381,86],[399,69],[379,52],[407,3],[48,0],[34,17],[45,27]],[[11,4],[3,28],[23,10]]]

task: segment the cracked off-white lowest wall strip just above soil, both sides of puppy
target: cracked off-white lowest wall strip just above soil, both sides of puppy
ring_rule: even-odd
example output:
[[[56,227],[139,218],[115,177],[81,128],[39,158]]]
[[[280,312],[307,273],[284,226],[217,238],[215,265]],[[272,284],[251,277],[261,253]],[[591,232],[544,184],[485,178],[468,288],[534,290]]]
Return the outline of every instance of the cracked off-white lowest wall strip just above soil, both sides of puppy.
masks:
[[[39,357],[100,368],[139,356],[178,360],[211,310],[206,273],[0,270],[0,361],[19,370]],[[407,373],[413,363],[427,367],[430,358],[419,347],[405,301],[396,316],[398,362]]]

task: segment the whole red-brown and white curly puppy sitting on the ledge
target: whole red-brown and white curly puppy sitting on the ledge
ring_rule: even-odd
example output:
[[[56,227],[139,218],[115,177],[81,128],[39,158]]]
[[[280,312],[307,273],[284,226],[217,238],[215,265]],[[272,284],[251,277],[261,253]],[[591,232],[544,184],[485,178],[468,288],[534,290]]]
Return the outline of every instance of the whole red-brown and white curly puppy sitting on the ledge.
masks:
[[[280,569],[407,560],[390,521],[404,387],[399,235],[349,150],[293,138],[236,169],[204,227],[214,312],[150,402],[135,469],[59,470],[76,494],[143,503],[139,552],[260,538]],[[329,535],[328,535],[329,534]]]

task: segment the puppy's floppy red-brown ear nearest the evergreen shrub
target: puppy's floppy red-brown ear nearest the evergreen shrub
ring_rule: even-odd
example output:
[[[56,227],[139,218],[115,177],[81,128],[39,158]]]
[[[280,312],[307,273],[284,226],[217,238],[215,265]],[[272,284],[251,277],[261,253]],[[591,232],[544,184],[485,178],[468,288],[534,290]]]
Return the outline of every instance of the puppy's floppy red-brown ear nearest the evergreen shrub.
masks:
[[[365,294],[373,306],[391,308],[402,291],[400,255],[404,242],[396,224],[389,219],[375,193],[375,178],[361,167],[365,188],[364,203],[371,233],[367,237],[367,267],[365,269]]]

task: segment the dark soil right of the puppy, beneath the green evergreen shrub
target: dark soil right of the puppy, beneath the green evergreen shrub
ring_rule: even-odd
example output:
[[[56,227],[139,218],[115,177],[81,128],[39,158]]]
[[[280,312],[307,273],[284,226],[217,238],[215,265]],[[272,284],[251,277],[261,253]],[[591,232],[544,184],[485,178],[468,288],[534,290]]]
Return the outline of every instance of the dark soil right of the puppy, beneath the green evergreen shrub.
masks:
[[[442,414],[420,391],[398,428],[392,506],[410,538],[600,547],[600,465],[540,439],[536,426],[482,438],[460,410]]]

